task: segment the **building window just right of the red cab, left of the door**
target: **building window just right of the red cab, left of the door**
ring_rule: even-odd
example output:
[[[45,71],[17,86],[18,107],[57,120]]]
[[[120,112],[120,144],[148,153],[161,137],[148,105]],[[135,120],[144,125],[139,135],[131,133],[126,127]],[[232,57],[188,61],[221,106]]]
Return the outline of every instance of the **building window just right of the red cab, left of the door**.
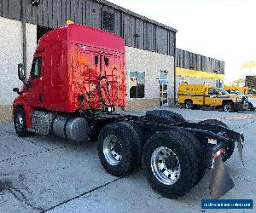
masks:
[[[130,72],[130,98],[145,97],[145,72]]]

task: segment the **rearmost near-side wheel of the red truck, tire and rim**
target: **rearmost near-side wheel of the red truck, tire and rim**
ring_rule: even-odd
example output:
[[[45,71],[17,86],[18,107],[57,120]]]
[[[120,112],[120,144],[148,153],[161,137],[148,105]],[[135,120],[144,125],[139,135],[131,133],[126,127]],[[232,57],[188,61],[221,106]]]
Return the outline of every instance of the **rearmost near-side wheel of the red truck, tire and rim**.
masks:
[[[143,170],[150,186],[163,197],[189,193],[198,178],[198,158],[187,138],[177,131],[156,133],[143,149]]]

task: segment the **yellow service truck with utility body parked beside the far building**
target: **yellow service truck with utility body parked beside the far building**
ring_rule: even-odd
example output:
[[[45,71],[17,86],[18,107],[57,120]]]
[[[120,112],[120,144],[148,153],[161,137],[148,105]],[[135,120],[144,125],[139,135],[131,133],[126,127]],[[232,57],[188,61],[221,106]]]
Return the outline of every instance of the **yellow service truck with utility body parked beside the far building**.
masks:
[[[196,107],[217,107],[225,112],[247,109],[247,102],[240,95],[230,95],[224,89],[210,84],[180,84],[177,103],[185,109]]]

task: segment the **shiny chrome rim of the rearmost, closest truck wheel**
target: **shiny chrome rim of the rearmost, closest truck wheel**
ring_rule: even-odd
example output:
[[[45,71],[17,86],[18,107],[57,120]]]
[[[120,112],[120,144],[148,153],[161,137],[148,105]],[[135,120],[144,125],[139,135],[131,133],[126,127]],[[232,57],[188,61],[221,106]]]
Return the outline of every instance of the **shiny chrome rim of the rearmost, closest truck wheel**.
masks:
[[[181,174],[177,155],[167,147],[158,147],[154,150],[151,156],[151,169],[158,181],[165,185],[173,185]]]

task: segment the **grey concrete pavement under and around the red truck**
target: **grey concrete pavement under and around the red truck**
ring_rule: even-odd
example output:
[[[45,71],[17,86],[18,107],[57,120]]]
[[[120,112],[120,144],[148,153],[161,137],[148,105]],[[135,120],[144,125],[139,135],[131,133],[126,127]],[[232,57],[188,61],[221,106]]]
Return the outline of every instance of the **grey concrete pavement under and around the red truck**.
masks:
[[[226,163],[236,187],[223,199],[255,200],[256,112],[172,111],[191,121],[220,118],[245,133],[246,165],[237,153]],[[0,124],[0,212],[200,212],[201,199],[210,199],[208,178],[209,172],[181,199],[164,199],[151,190],[142,170],[123,178],[108,175],[97,158],[96,143],[21,139],[13,124]]]

